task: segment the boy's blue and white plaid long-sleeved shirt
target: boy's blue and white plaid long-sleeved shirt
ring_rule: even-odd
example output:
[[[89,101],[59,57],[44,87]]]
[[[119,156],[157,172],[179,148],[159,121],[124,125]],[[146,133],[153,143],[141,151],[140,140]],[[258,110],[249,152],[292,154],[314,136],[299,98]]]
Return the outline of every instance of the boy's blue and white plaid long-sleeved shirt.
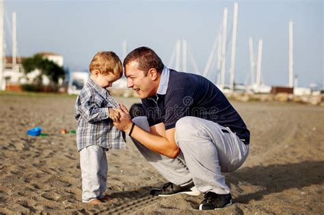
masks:
[[[75,103],[79,151],[89,145],[100,145],[107,149],[126,147],[125,133],[113,126],[113,121],[109,119],[109,108],[119,108],[118,102],[107,89],[89,78]]]

